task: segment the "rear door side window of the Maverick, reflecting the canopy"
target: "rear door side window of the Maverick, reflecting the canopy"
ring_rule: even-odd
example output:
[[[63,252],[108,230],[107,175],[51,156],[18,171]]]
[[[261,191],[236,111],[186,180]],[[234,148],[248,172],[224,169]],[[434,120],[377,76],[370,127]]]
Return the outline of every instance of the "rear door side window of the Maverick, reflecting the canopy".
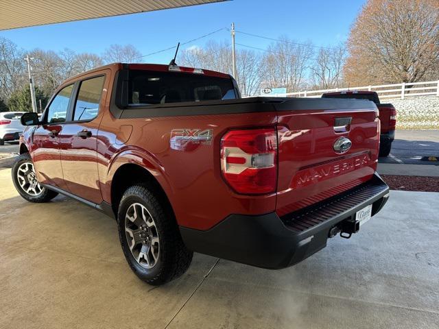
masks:
[[[102,76],[81,82],[75,112],[73,112],[74,121],[91,120],[97,117],[104,81],[105,77]]]

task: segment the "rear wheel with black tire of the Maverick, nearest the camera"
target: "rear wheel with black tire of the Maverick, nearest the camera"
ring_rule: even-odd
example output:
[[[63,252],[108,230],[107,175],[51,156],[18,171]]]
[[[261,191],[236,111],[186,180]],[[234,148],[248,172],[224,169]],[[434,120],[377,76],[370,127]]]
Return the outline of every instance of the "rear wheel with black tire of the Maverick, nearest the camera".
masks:
[[[141,280],[164,284],[191,265],[193,253],[183,243],[174,216],[145,186],[127,189],[117,221],[123,254]]]

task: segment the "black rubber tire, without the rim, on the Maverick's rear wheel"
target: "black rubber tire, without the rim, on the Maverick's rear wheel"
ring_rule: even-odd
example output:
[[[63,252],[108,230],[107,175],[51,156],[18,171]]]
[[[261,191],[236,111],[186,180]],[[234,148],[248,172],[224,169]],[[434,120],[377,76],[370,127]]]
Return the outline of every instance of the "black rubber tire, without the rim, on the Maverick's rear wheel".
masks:
[[[136,206],[143,206],[147,210],[146,217],[148,220],[152,219],[152,223],[154,223],[154,228],[151,230],[154,230],[158,237],[158,247],[155,249],[158,250],[158,256],[152,268],[145,268],[145,265],[142,266],[138,263],[137,259],[134,258],[134,254],[130,249],[130,244],[132,246],[135,245],[134,237],[130,239],[130,243],[128,242],[126,221],[128,224],[131,223],[126,217],[129,215],[128,211]],[[132,215],[131,217],[135,216]],[[145,220],[145,218],[142,217],[142,220]],[[147,221],[145,221],[145,223]],[[189,265],[191,265],[193,252],[189,251],[183,243],[174,215],[171,213],[171,210],[167,209],[145,186],[131,186],[123,193],[119,204],[117,223],[119,240],[121,241],[123,254],[125,255],[128,265],[130,265],[132,271],[134,271],[141,280],[148,284],[165,284],[182,276],[189,268]],[[132,221],[132,223],[134,227],[141,227],[137,226],[134,221]],[[145,226],[143,226],[143,229],[145,229]],[[140,231],[133,230],[132,232]],[[143,241],[143,244],[144,243],[145,241]],[[144,247],[142,243],[139,243],[139,246],[141,248]],[[151,248],[151,246],[145,246],[145,250],[147,250],[146,254],[150,253]]]

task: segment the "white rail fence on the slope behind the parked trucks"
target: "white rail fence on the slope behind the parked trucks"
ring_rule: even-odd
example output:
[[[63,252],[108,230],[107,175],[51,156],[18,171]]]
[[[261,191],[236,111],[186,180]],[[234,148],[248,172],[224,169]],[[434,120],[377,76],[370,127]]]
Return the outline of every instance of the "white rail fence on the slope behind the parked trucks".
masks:
[[[351,88],[333,88],[324,90],[304,90],[296,93],[279,94],[279,97],[320,97],[323,93],[348,90],[376,91],[380,99],[405,99],[414,96],[434,95],[439,97],[439,80],[427,82],[410,82],[402,84],[381,84],[379,86],[361,86]]]

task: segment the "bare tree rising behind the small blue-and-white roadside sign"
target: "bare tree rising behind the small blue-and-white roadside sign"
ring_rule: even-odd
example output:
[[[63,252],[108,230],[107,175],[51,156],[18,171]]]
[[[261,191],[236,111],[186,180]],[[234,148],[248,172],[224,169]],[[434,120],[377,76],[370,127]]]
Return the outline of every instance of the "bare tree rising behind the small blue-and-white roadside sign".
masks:
[[[268,87],[286,87],[288,92],[299,90],[305,82],[312,56],[311,42],[299,45],[282,36],[268,47],[263,56],[263,84]]]

